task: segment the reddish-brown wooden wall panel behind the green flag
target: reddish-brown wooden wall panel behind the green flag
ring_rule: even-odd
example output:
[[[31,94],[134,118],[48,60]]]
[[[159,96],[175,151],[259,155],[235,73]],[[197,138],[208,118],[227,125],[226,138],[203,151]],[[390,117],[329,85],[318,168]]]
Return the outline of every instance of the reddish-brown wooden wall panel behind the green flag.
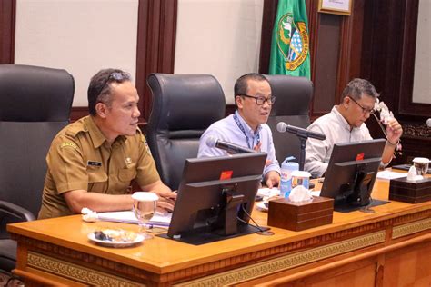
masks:
[[[264,2],[259,67],[259,72],[263,74],[268,71],[276,2]],[[352,14],[343,16],[320,14],[317,12],[318,3],[306,0],[311,80],[315,84],[310,107],[312,119],[328,113],[334,104],[338,104],[339,96],[350,79],[360,76],[365,3],[366,0],[354,1]]]

